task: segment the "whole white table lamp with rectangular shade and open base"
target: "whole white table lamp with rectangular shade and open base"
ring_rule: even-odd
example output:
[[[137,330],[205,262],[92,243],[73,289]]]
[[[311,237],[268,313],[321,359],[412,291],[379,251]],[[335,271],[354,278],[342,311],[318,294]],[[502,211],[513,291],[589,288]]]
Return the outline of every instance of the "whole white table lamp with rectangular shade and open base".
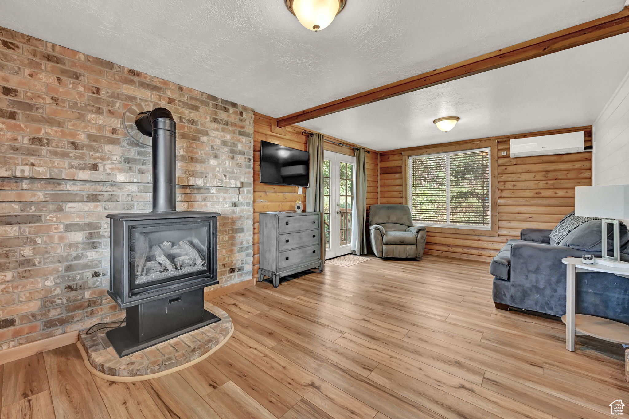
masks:
[[[629,185],[577,186],[574,195],[574,215],[603,218],[601,220],[601,265],[629,269],[629,262],[620,260],[620,221],[629,218]],[[614,228],[613,255],[608,255],[608,225]]]

